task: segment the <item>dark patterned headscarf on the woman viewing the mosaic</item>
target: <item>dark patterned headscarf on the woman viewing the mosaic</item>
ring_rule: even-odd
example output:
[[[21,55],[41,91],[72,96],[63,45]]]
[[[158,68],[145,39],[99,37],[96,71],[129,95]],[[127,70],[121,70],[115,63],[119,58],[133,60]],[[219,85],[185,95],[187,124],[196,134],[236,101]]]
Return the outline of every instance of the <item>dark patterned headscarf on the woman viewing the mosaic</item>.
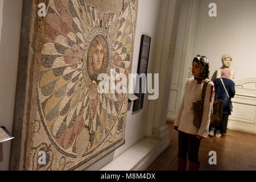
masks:
[[[193,62],[194,61],[196,61],[200,65],[201,71],[198,76],[203,79],[209,78],[210,65],[209,65],[209,61],[208,61],[207,57],[196,55],[196,57],[194,57],[194,59],[193,59]]]

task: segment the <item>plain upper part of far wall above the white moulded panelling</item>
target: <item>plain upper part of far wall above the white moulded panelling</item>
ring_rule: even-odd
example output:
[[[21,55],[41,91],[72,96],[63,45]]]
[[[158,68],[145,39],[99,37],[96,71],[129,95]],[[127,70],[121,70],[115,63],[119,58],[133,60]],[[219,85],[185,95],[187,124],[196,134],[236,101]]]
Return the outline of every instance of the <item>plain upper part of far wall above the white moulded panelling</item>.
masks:
[[[208,15],[208,5],[217,5],[217,17]],[[225,53],[233,57],[234,80],[256,77],[256,1],[204,0],[201,3],[195,53],[207,55],[211,75],[221,67]]]

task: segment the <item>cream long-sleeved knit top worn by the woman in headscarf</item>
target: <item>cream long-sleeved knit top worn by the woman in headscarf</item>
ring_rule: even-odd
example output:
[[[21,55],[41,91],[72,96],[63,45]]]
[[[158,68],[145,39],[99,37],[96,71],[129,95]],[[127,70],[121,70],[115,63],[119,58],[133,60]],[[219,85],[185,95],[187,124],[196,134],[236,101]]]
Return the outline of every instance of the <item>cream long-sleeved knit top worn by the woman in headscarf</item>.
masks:
[[[201,127],[198,129],[193,125],[194,113],[193,102],[200,101],[202,96],[204,80],[201,84],[197,83],[197,80],[190,78],[185,86],[185,93],[183,100],[181,101],[179,112],[177,114],[174,126],[178,127],[178,131],[182,131],[187,134],[199,135],[203,138],[208,138],[210,117],[213,110],[214,102],[214,84],[209,82],[205,92],[204,109]]]

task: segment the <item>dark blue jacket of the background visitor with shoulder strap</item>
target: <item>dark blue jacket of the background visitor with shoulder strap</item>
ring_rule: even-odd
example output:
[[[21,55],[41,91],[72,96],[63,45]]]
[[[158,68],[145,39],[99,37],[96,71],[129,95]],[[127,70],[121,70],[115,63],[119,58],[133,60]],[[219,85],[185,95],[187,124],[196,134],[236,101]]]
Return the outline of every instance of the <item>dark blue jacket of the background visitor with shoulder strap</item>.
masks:
[[[222,78],[222,80],[224,82],[224,85],[226,86],[226,90],[229,93],[229,97],[233,98],[236,93],[236,90],[234,88],[235,86],[234,82],[227,78]],[[214,86],[216,90],[215,99],[223,100],[222,113],[231,115],[231,103],[228,95],[226,94],[224,86],[221,83],[220,78],[217,78],[216,80],[214,80]]]

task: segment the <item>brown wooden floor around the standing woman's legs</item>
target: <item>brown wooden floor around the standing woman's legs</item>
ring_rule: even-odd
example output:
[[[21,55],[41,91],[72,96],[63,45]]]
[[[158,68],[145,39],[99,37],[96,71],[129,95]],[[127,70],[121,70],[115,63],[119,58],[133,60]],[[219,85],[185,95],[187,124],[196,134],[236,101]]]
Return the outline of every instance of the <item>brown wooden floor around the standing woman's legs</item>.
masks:
[[[177,170],[177,138],[178,134],[169,126],[171,142],[147,168],[147,171]],[[209,152],[216,151],[217,164],[209,164]],[[201,140],[199,150],[201,171],[247,171],[256,170],[256,135],[227,130],[225,137],[208,137]]]

